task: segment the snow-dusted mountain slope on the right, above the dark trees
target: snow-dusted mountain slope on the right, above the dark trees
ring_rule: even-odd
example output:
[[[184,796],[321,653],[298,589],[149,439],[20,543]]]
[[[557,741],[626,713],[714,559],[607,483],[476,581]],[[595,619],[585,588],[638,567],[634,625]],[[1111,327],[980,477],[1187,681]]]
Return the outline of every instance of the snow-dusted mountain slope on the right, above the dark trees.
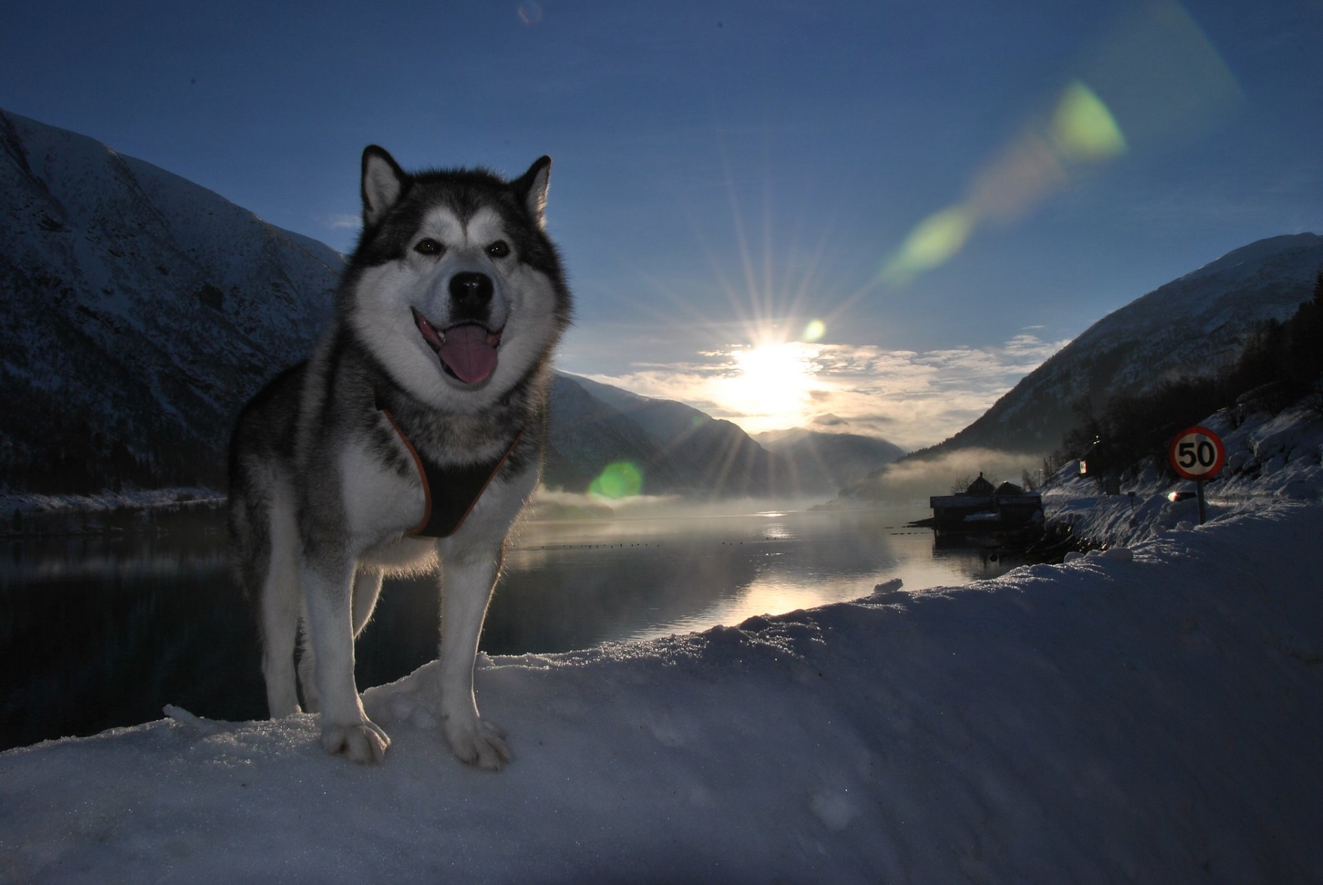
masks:
[[[1234,361],[1256,325],[1286,320],[1323,270],[1323,237],[1261,239],[1148,292],[1094,323],[1025,376],[978,421],[930,452],[986,447],[1049,452],[1074,423],[1072,406],[1101,410],[1115,394]]]

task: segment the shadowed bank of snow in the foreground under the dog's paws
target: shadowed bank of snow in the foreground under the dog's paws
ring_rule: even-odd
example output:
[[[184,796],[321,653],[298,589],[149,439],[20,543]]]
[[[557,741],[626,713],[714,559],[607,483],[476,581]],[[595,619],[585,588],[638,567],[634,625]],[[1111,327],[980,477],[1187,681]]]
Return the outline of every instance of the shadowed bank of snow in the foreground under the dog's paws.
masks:
[[[1203,527],[1192,501],[1146,491],[1135,517],[1126,496],[1065,483],[1049,513],[1109,549],[703,634],[483,657],[479,704],[515,753],[499,774],[445,747],[434,664],[364,693],[393,738],[376,767],[325,755],[311,716],[177,709],[3,753],[0,870],[1319,881],[1323,431],[1302,411],[1226,438],[1249,454]]]

